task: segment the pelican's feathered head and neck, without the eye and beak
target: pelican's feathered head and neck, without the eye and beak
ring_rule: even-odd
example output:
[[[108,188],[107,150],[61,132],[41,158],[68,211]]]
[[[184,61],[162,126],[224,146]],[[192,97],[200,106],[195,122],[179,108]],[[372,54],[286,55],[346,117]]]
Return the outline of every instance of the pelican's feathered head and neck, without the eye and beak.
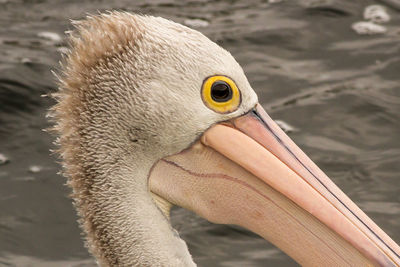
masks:
[[[75,27],[50,114],[88,248],[103,266],[194,265],[151,198],[150,168],[256,95],[228,52],[180,24],[112,12]],[[215,74],[249,90],[231,114],[202,103]]]

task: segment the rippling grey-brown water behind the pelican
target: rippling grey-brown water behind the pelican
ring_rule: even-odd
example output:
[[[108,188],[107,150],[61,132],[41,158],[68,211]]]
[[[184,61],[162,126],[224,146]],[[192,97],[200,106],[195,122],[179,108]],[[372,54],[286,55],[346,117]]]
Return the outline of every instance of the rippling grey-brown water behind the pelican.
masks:
[[[70,19],[111,9],[208,22],[197,29],[236,57],[270,115],[399,243],[400,13],[387,7],[385,34],[351,29],[374,3],[0,0],[0,266],[94,265],[42,131],[53,102],[41,95],[56,89]],[[179,208],[172,220],[199,266],[296,265],[238,227]]]

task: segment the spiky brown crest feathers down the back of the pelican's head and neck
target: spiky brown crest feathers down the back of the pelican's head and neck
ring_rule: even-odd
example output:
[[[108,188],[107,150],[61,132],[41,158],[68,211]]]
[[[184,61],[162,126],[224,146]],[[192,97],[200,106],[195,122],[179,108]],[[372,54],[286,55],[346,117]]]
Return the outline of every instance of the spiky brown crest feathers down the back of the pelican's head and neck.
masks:
[[[68,177],[67,184],[73,189],[71,197],[80,217],[87,218],[91,215],[91,206],[85,196],[90,194],[91,181],[85,179],[81,164],[85,160],[80,150],[82,99],[89,94],[93,70],[134,47],[142,38],[145,27],[139,16],[125,12],[88,16],[83,21],[74,21],[73,25],[75,29],[68,32],[69,52],[61,63],[61,72],[56,75],[59,90],[52,94],[57,104],[48,116],[55,122],[50,130],[58,136],[55,141],[59,147],[57,152],[62,159],[63,175]],[[105,261],[100,246],[95,244],[96,230],[91,222],[80,219],[80,225],[91,241],[87,246],[98,259]]]

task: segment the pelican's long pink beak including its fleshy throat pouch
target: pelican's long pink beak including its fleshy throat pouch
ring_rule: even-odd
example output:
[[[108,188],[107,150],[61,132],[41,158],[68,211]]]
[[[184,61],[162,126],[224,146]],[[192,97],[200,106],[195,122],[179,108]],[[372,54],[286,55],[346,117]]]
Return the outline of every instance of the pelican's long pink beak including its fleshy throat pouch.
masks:
[[[150,189],[210,221],[243,226],[302,265],[400,266],[399,246],[260,105],[161,160]]]

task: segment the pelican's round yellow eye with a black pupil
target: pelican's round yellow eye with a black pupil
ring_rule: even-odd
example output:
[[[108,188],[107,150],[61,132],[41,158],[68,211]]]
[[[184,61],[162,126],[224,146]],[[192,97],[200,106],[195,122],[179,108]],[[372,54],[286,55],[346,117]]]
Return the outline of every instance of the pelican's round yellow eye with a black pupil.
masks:
[[[240,91],[235,82],[222,75],[204,80],[201,97],[208,108],[218,113],[235,111],[241,101]]]

